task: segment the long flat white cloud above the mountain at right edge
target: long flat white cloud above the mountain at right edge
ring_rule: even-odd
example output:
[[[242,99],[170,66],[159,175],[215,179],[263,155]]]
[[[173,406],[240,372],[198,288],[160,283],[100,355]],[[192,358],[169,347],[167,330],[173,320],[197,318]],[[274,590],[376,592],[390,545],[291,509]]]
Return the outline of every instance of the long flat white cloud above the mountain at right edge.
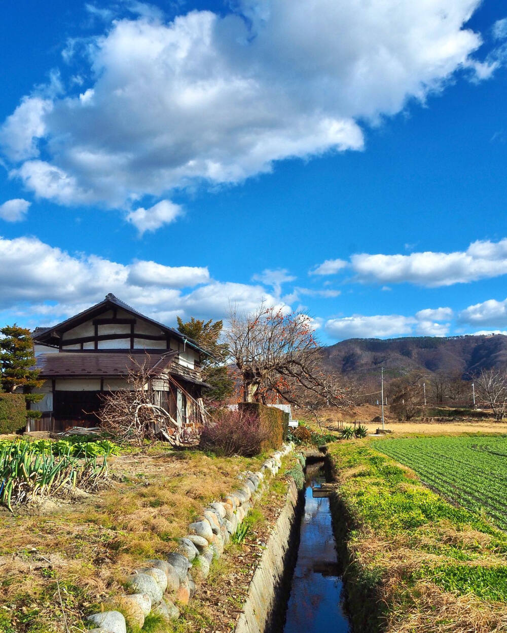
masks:
[[[412,283],[427,287],[465,284],[507,273],[507,238],[477,241],[466,251],[409,255],[356,254],[350,258],[360,282]]]

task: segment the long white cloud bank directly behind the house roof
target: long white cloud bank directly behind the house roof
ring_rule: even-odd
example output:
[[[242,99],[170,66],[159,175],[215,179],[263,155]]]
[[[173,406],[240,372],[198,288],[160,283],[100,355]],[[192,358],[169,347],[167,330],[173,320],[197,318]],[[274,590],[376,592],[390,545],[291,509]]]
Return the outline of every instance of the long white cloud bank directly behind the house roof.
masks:
[[[176,315],[224,318],[231,306],[254,310],[261,301],[283,307],[259,284],[210,279],[202,266],[164,266],[154,261],[121,264],[95,255],[73,255],[35,237],[0,238],[0,310],[61,320],[108,292],[160,320]],[[186,292],[184,288],[188,288]]]

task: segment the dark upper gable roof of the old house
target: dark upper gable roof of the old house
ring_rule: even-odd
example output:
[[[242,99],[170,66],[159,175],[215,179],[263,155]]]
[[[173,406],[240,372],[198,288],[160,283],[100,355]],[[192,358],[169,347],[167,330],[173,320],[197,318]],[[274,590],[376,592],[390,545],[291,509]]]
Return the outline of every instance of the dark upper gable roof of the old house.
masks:
[[[103,301],[96,303],[94,306],[91,306],[90,308],[83,310],[77,315],[71,316],[65,321],[58,323],[57,325],[53,325],[51,327],[46,327],[46,328],[40,328],[40,327],[35,328],[34,332],[32,332],[32,339],[34,339],[34,342],[37,342],[37,343],[51,344],[51,339],[54,338],[55,334],[58,334],[60,332],[66,332],[67,330],[70,330],[73,327],[80,325],[80,323],[84,323],[87,320],[93,318],[95,315],[99,315],[105,310],[110,310],[114,308],[121,308],[122,310],[125,310],[134,316],[138,316],[144,321],[151,323],[152,325],[156,325],[162,330],[162,332],[165,332],[166,334],[170,334],[171,336],[173,336],[176,339],[179,339],[180,341],[183,341],[183,342],[186,341],[186,344],[200,351],[202,354],[206,354],[206,356],[211,355],[209,351],[200,347],[195,341],[193,341],[193,339],[190,339],[188,336],[181,334],[181,332],[178,332],[178,330],[175,330],[174,328],[169,327],[168,325],[164,325],[164,323],[160,323],[150,318],[149,316],[141,314],[140,312],[138,312],[138,310],[135,310],[134,308],[132,308],[132,306],[129,306],[127,303],[124,303],[124,301],[121,301],[121,299],[115,297],[112,294],[112,292],[110,292],[109,294],[106,294],[106,298]]]

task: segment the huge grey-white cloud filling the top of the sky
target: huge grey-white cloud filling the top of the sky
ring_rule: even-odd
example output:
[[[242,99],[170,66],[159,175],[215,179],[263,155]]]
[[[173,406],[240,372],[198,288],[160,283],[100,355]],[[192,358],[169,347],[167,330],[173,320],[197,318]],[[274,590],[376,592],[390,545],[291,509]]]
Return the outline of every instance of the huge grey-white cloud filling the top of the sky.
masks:
[[[358,120],[424,101],[475,63],[481,39],[463,25],[479,3],[238,0],[226,15],[167,23],[132,2],[138,17],[66,49],[85,77],[80,94],[23,97],[0,142],[37,196],[122,208],[189,184],[240,182],[288,157],[359,150]],[[169,221],[148,211],[129,215],[141,232]]]

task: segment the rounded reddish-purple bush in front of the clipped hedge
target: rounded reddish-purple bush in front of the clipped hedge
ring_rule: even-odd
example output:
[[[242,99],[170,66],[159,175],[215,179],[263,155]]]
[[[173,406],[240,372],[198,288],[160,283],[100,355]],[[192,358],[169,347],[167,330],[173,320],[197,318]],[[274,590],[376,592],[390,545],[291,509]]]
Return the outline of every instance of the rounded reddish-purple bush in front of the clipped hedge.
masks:
[[[251,457],[262,451],[270,435],[270,427],[250,411],[216,411],[212,422],[202,430],[201,446],[221,455]]]

